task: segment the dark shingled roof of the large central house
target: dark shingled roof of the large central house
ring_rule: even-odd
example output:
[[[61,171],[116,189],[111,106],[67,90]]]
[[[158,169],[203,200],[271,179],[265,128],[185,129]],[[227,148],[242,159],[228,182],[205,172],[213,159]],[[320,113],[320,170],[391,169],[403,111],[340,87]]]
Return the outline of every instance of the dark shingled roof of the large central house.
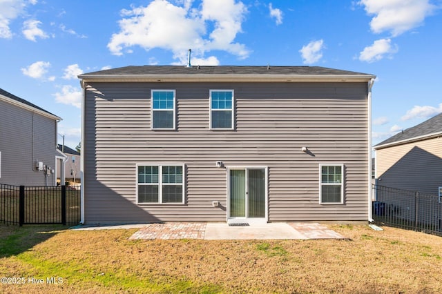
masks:
[[[368,75],[320,66],[125,66],[79,75]]]

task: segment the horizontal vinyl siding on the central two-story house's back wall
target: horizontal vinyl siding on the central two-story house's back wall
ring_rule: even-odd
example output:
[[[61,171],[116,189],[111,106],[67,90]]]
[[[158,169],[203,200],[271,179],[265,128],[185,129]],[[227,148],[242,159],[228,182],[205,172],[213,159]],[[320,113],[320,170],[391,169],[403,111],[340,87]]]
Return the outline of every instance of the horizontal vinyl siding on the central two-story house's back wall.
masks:
[[[151,89],[176,90],[176,130],[151,130]],[[234,90],[234,130],[209,129],[211,89]],[[269,222],[368,218],[366,83],[92,83],[85,92],[86,223],[225,221],[227,172],[216,161],[268,166]],[[137,205],[139,163],[185,164],[185,204]],[[319,204],[327,163],[344,164],[344,204]]]

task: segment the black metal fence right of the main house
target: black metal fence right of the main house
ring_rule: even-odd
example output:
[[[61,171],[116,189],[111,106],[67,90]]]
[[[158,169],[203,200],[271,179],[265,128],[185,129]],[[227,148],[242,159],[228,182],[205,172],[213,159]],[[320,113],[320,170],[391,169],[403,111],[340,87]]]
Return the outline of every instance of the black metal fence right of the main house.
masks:
[[[442,236],[439,195],[373,186],[373,218],[377,224]]]

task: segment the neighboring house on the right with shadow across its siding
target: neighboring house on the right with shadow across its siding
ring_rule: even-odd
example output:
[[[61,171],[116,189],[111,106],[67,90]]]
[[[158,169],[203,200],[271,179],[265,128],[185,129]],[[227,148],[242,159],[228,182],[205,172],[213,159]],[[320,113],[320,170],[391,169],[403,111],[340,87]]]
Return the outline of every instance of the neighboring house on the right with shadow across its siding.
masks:
[[[376,184],[437,195],[442,186],[442,114],[374,146]]]

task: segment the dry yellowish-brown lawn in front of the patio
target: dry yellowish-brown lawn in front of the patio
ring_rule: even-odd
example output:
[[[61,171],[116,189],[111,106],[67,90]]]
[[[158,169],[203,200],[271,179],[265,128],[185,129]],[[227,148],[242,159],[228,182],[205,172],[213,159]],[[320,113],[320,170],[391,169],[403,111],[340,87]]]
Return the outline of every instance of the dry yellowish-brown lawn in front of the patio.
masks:
[[[0,227],[1,239],[9,240],[0,242],[0,272],[45,282],[0,284],[1,293],[442,292],[442,238],[397,228],[334,225],[329,228],[349,240],[259,241],[128,240],[136,230],[10,228]],[[37,242],[45,232],[49,237]],[[23,240],[30,244],[5,249]]]

